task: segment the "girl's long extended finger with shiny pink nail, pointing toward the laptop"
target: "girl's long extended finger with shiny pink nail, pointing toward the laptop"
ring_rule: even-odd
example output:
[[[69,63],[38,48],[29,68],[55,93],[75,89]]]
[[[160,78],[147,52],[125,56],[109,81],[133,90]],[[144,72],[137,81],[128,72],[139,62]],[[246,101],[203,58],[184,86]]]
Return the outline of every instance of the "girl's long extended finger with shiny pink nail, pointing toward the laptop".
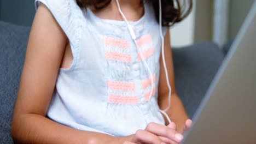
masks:
[[[158,136],[167,137],[174,142],[181,142],[183,140],[183,135],[179,134],[176,130],[166,127],[165,125],[157,123],[149,123],[146,130]]]

